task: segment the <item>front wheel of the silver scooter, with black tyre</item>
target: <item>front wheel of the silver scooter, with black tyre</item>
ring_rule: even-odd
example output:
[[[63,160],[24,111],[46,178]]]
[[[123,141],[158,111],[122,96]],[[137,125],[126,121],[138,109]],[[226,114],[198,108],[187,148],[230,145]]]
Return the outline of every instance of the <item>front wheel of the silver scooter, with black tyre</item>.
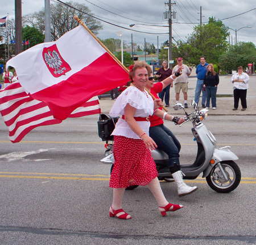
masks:
[[[234,161],[221,161],[221,166],[228,177],[225,180],[220,168],[216,164],[209,175],[206,177],[207,184],[220,193],[229,193],[236,189],[241,181],[241,171],[238,165]]]

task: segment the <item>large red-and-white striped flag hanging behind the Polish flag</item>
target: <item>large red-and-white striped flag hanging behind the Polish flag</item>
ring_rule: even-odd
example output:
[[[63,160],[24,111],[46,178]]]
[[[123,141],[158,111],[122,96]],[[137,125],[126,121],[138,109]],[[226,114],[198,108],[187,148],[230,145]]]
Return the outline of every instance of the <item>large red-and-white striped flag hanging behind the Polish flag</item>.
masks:
[[[9,128],[9,139],[13,143],[20,142],[35,127],[62,122],[53,118],[46,103],[31,98],[19,82],[14,82],[4,90],[0,90],[0,112]],[[84,117],[100,112],[100,103],[96,96],[73,111],[69,117]]]

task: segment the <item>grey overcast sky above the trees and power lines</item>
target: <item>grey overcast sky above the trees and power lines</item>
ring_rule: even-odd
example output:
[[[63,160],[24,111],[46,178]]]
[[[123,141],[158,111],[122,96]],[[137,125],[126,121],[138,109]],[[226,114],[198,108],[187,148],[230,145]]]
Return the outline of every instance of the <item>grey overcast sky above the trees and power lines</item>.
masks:
[[[51,0],[50,3],[54,2]],[[63,2],[66,1],[63,0]],[[133,34],[133,42],[137,44],[143,44],[144,38],[146,38],[148,43],[154,43],[157,47],[157,36],[159,36],[159,45],[168,40],[168,34],[164,34],[168,33],[168,27],[148,26],[168,26],[167,20],[163,17],[163,13],[168,10],[168,6],[164,3],[168,2],[168,0],[73,0],[73,2],[84,3],[97,18],[116,25],[113,26],[102,22],[103,30],[98,34],[101,39],[118,38],[115,32],[123,31],[123,40],[127,44],[131,43],[131,34]],[[175,1],[173,0],[172,2]],[[226,26],[234,30],[242,27],[251,27],[237,31],[237,40],[252,41],[256,45],[255,0],[176,0],[176,5],[172,5],[172,10],[177,13],[177,18],[174,19],[172,24],[172,36],[175,40],[186,41],[187,37],[192,34],[193,27],[197,24],[189,23],[200,22],[200,6],[202,7],[203,22],[208,22],[209,17],[213,16],[216,20],[222,20]],[[22,15],[39,11],[43,7],[44,0],[22,0]],[[6,16],[7,13],[9,13],[10,19],[14,18],[14,0],[8,0],[1,6],[0,18]],[[230,18],[232,16],[234,17]],[[134,27],[129,26],[134,23]],[[152,34],[132,30],[150,32]],[[234,44],[236,32],[230,30],[230,36],[233,37]]]

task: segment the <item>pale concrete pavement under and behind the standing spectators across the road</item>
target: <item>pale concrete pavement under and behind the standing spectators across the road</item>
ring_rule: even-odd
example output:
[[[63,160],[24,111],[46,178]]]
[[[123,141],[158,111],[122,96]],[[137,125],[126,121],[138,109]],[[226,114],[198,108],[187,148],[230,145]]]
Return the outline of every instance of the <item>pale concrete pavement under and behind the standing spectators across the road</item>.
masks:
[[[256,76],[251,75],[249,81],[249,89],[247,90],[247,109],[246,111],[241,111],[241,102],[238,106],[238,110],[233,111],[234,98],[233,98],[233,86],[231,80],[231,75],[220,76],[220,84],[217,90],[217,109],[212,110],[211,104],[208,111],[208,115],[256,115]],[[192,106],[189,105],[191,100],[195,97],[196,89],[196,77],[188,77],[188,109],[187,112],[193,110]],[[220,96],[220,97],[218,97]],[[183,93],[180,92],[180,103],[184,103]],[[114,101],[109,100],[109,98],[101,98],[100,106],[101,112],[108,114]],[[175,92],[174,88],[170,90],[170,107],[167,107],[168,113],[174,115],[183,115],[181,111],[175,111]],[[201,98],[199,101],[199,106],[201,107]],[[184,112],[184,111],[183,111]]]

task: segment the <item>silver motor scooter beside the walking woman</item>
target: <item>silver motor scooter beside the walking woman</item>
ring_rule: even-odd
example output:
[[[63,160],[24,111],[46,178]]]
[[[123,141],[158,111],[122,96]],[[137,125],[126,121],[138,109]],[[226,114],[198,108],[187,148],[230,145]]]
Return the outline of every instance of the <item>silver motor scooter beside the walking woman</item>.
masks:
[[[201,173],[206,178],[210,188],[220,193],[229,193],[236,189],[241,181],[241,171],[234,162],[238,157],[230,151],[230,146],[217,148],[216,138],[203,124],[203,119],[207,116],[207,109],[200,110],[195,101],[192,101],[195,110],[187,113],[182,104],[177,103],[175,110],[183,109],[185,112],[185,122],[192,122],[192,134],[197,143],[197,156],[193,164],[181,165],[184,179],[194,180]],[[106,144],[105,158],[102,163],[114,164],[113,144]],[[156,163],[159,180],[171,181],[171,173],[168,166],[168,155],[156,148],[151,151],[152,157]],[[112,165],[113,168],[113,165]],[[138,185],[137,185],[138,186]],[[134,189],[137,186],[129,186],[127,189]]]

